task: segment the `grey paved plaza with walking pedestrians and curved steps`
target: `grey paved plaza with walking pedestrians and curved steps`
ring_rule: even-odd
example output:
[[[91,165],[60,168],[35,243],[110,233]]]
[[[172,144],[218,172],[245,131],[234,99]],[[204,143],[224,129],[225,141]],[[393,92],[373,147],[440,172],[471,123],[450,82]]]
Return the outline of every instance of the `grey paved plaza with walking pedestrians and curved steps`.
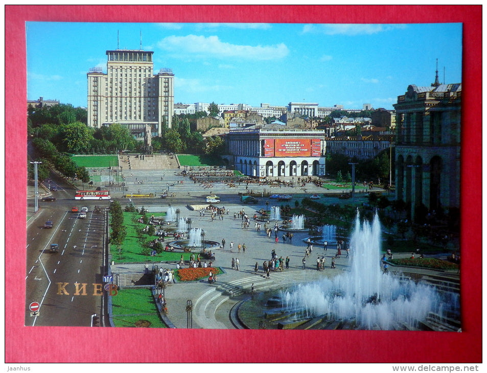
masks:
[[[285,281],[293,283],[292,277],[296,278],[296,282],[303,281],[304,278],[309,277],[311,279],[318,278],[319,276],[332,276],[337,273],[347,270],[350,258],[346,258],[342,255],[341,258],[336,259],[336,268],[331,269],[331,258],[335,256],[336,245],[328,245],[328,250],[323,250],[323,247],[314,247],[311,256],[307,258],[306,269],[302,267],[302,259],[305,255],[307,244],[304,241],[308,236],[307,231],[294,232],[294,238],[292,243],[282,241],[282,232],[279,235],[279,242],[275,243],[274,234],[269,239],[263,229],[258,232],[254,228],[254,221],[252,220],[253,214],[260,208],[266,209],[265,201],[268,200],[269,209],[273,205],[281,205],[282,202],[275,200],[260,199],[260,203],[257,205],[244,205],[238,198],[235,198],[237,193],[244,192],[246,185],[240,185],[239,188],[229,191],[225,184],[215,183],[212,189],[203,189],[201,185],[194,184],[189,179],[184,179],[182,176],[176,175],[179,170],[162,170],[162,171],[133,171],[126,176],[126,185],[129,188],[128,193],[136,193],[138,190],[143,190],[143,193],[157,193],[169,185],[169,191],[176,193],[176,198],[161,200],[160,204],[147,205],[149,212],[165,212],[172,203],[172,207],[179,208],[181,213],[180,217],[191,218],[193,228],[202,228],[205,231],[205,240],[221,242],[225,239],[225,247],[217,248],[214,250],[216,255],[216,261],[214,266],[220,267],[225,273],[218,276],[216,284],[208,284],[207,282],[193,282],[169,285],[166,290],[166,299],[168,314],[166,315],[175,328],[187,328],[188,318],[186,312],[187,301],[193,302],[193,328],[208,328],[208,329],[230,329],[235,328],[229,321],[229,313],[231,307],[239,299],[229,299],[228,291],[234,289],[244,289],[244,292],[248,292],[251,284],[254,283],[256,291],[262,288],[268,288],[275,283],[275,286],[279,288],[280,282],[276,282],[274,278],[283,277],[287,278]],[[162,180],[161,180],[162,179]],[[144,180],[143,184],[140,180]],[[183,183],[180,183],[183,181]],[[263,190],[265,186],[251,186],[254,190]],[[269,190],[269,188],[267,188]],[[222,201],[220,207],[224,206],[229,209],[229,213],[223,217],[223,220],[216,218],[212,221],[211,216],[205,214],[201,217],[199,211],[192,211],[188,208],[187,203],[178,203],[177,196],[188,196],[194,198],[195,205],[205,204],[204,196],[208,192],[222,195]],[[272,193],[272,191],[271,191]],[[279,194],[295,194],[295,193],[323,193],[323,189],[315,186],[312,183],[308,183],[304,188],[277,188],[275,193]],[[225,196],[229,201],[225,200]],[[234,198],[229,198],[233,196]],[[360,198],[357,197],[357,198]],[[333,197],[322,197],[322,201],[327,203],[333,203]],[[143,200],[133,200],[136,206],[144,205]],[[172,201],[172,202],[171,202]],[[338,201],[338,199],[337,199]],[[286,202],[294,203],[294,201]],[[234,213],[239,211],[245,211],[250,217],[250,225],[248,229],[242,229],[242,220],[238,217],[234,218]],[[264,223],[262,222],[262,226]],[[233,251],[230,251],[230,242],[234,242]],[[238,252],[237,246],[239,244],[245,244],[246,252]],[[271,272],[270,279],[264,279],[262,277],[262,264],[264,261],[271,259],[271,251],[275,249],[277,257],[289,257],[290,268],[285,269],[286,275],[282,275],[280,272]],[[316,271],[316,257],[324,255],[327,259],[326,268],[322,272]],[[395,255],[396,258],[408,257],[408,254]],[[232,258],[239,258],[240,270],[234,270],[231,268]],[[380,258],[378,258],[379,260]],[[257,275],[254,273],[254,265],[256,262],[259,264],[259,272]],[[160,266],[160,265],[159,265]],[[176,268],[175,264],[164,264],[164,268],[173,269]],[[115,265],[112,268],[112,272],[126,271],[126,272],[144,272],[144,264],[131,264],[131,265]],[[425,270],[416,270],[425,271]],[[427,272],[427,271],[426,271]],[[305,273],[309,273],[305,275]],[[291,280],[289,279],[291,278]],[[240,285],[239,285],[240,284]],[[226,291],[225,285],[228,285]],[[218,298],[220,297],[220,298]],[[202,303],[204,302],[204,303]],[[210,307],[210,303],[213,305]],[[216,306],[215,306],[216,302]],[[221,302],[218,304],[218,302]],[[212,315],[207,315],[208,309],[212,309],[214,312]]]

